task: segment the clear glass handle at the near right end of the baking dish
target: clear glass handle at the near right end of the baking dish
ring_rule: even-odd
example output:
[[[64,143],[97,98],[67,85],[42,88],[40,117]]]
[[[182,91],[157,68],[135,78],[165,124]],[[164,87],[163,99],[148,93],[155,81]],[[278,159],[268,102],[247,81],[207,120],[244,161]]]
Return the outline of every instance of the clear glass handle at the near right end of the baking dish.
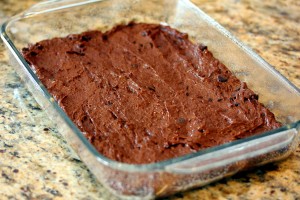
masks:
[[[275,157],[280,160],[290,155],[299,144],[300,124],[294,125],[275,134],[228,147],[224,145],[219,150],[168,165],[166,170],[176,174],[211,173],[220,170],[222,174],[232,174],[246,167],[248,162],[253,167],[275,161]],[[274,156],[274,153],[277,155]]]

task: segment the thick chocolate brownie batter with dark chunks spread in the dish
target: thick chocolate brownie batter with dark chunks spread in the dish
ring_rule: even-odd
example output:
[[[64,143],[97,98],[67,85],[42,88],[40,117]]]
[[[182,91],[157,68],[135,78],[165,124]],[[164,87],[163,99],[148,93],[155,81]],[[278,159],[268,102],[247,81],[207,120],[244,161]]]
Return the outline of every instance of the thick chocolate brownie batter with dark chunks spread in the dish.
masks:
[[[280,126],[206,46],[169,26],[119,25],[22,53],[94,147],[120,162],[158,162]]]

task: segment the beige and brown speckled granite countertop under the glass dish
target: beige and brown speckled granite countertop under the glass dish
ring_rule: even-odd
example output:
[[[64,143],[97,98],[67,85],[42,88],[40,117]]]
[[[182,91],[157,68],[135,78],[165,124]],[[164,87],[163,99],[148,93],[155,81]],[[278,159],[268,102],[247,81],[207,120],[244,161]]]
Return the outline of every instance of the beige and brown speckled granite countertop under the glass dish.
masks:
[[[0,1],[0,23],[37,0]],[[300,87],[300,3],[193,0]],[[0,42],[0,199],[116,199],[20,83]],[[300,199],[300,148],[282,162],[169,199]]]

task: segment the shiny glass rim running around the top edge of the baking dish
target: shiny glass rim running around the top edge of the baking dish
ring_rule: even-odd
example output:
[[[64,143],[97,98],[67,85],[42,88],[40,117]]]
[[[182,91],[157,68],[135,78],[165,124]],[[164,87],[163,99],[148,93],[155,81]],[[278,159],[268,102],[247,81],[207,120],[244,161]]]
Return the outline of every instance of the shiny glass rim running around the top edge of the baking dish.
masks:
[[[52,2],[55,2],[56,0],[53,0]],[[72,0],[71,0],[72,1]],[[95,3],[95,2],[101,2],[103,0],[77,0],[79,3],[70,4],[69,6],[63,6],[60,9],[67,9],[74,6],[80,6],[85,5],[87,3]],[[286,77],[281,75],[276,69],[271,67],[271,65],[266,62],[263,58],[261,58],[259,55],[257,55],[253,50],[251,50],[248,46],[244,45],[242,42],[240,42],[235,36],[233,36],[229,31],[227,31],[223,26],[221,26],[218,22],[216,22],[214,19],[212,19],[210,16],[208,16],[206,13],[204,13],[200,8],[195,6],[190,0],[179,0],[183,1],[184,3],[188,4],[188,6],[191,6],[193,9],[196,9],[198,14],[201,15],[201,17],[205,18],[209,24],[214,26],[218,31],[220,31],[224,36],[229,37],[232,42],[234,42],[236,45],[238,45],[242,50],[244,50],[247,54],[250,56],[253,56],[258,62],[262,63],[263,66],[267,67],[268,70],[270,70],[273,75],[277,76],[277,78],[284,81],[284,83],[288,84],[292,89],[295,90],[295,92],[300,96],[300,89],[297,88],[293,83],[291,83]],[[36,5],[42,5],[47,4],[46,2],[41,2]],[[46,12],[52,12],[60,9],[48,9],[40,12],[23,12],[18,15],[15,15],[8,19],[6,22],[4,22],[1,25],[0,29],[0,37],[4,41],[4,43],[7,45],[10,52],[15,56],[17,61],[26,68],[27,72],[30,74],[31,78],[34,80],[34,84],[37,84],[39,89],[42,91],[43,95],[50,101],[51,105],[55,108],[55,110],[60,114],[60,116],[63,118],[63,120],[67,123],[67,125],[71,128],[71,130],[76,134],[76,136],[81,140],[81,142],[84,144],[84,146],[88,149],[88,151],[97,158],[97,161],[101,162],[102,164],[112,167],[114,169],[123,170],[123,171],[133,171],[133,172],[149,172],[149,171],[160,171],[164,170],[167,166],[170,166],[172,164],[179,164],[183,161],[200,157],[203,155],[206,155],[208,153],[212,153],[215,151],[223,150],[229,147],[235,147],[237,145],[246,144],[247,142],[258,140],[260,138],[266,138],[268,136],[272,136],[275,134],[279,134],[283,131],[291,130],[291,129],[298,129],[300,128],[300,120],[295,121],[291,124],[287,124],[285,126],[279,127],[277,129],[273,129],[267,132],[263,132],[257,135],[249,136],[246,138],[238,139],[232,142],[228,142],[219,146],[206,148],[203,150],[199,150],[195,153],[189,153],[187,155],[179,156],[176,158],[171,158],[155,163],[147,163],[147,164],[128,164],[123,163],[119,161],[112,160],[108,157],[105,157],[101,153],[99,153],[92,144],[85,138],[85,136],[82,134],[82,132],[79,130],[79,128],[72,122],[72,120],[66,115],[66,113],[62,110],[62,108],[58,105],[58,103],[53,99],[53,97],[50,95],[50,93],[47,91],[47,89],[44,87],[44,85],[41,83],[41,81],[38,79],[37,75],[33,72],[29,64],[25,61],[23,56],[21,55],[19,49],[15,46],[14,42],[10,39],[8,36],[6,29],[7,26],[15,21],[28,18],[28,17],[34,17],[35,15],[44,14]]]

